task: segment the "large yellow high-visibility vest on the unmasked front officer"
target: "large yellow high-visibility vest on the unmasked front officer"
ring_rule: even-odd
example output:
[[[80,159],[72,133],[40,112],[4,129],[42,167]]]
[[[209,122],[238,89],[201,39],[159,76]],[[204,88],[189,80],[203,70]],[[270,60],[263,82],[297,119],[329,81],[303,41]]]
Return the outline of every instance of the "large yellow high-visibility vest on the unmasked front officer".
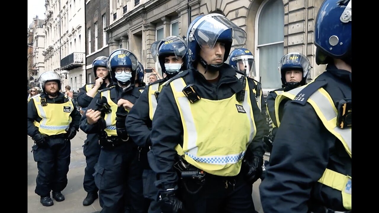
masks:
[[[183,124],[183,149],[177,146],[178,153],[184,153],[188,163],[210,174],[237,175],[256,133],[249,85],[243,102],[233,95],[222,100],[202,98],[196,103],[190,103],[183,94],[183,78],[173,80],[170,86]]]

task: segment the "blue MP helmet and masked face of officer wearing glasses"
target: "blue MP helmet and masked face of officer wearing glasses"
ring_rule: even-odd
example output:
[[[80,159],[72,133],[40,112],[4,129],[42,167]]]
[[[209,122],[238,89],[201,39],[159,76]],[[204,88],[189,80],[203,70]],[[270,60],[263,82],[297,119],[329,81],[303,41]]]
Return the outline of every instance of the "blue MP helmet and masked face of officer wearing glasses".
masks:
[[[108,58],[111,77],[114,82],[118,82],[121,85],[134,85],[137,66],[137,57],[127,49],[114,50]],[[121,71],[117,71],[119,70],[117,68],[121,69]],[[125,68],[130,68],[131,72],[123,70]]]

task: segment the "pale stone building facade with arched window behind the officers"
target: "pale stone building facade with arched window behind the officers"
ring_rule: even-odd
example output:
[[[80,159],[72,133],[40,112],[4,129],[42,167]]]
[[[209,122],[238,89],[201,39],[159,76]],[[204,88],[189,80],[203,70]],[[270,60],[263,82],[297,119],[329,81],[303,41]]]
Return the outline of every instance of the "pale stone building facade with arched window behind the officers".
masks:
[[[263,92],[281,87],[278,63],[289,52],[306,55],[309,79],[325,66],[315,63],[315,18],[323,0],[110,0],[108,47],[136,54],[146,67],[155,67],[150,45],[170,35],[186,36],[200,14],[221,13],[247,33],[245,48],[255,56]],[[233,50],[233,48],[232,48]]]

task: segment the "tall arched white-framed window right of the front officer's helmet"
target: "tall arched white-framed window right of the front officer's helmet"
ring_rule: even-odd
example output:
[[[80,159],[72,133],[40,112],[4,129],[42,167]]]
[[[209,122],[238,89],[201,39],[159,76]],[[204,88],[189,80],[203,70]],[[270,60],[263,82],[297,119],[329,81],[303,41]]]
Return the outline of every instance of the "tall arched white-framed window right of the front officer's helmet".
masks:
[[[284,53],[284,6],[282,0],[265,0],[255,19],[255,63],[262,88],[281,88],[278,64]]]

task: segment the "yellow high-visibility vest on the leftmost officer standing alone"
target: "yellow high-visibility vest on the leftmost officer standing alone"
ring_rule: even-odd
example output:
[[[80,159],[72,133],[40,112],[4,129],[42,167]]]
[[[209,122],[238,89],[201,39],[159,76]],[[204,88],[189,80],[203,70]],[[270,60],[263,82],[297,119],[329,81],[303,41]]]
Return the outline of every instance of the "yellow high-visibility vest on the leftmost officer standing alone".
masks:
[[[41,105],[41,96],[33,96],[34,106],[37,109],[38,116],[42,118],[40,122],[34,121],[34,125],[38,127],[38,131],[45,135],[59,135],[66,133],[66,128],[70,127],[72,118],[70,116],[74,105],[72,100],[66,103],[47,103],[46,106]]]

